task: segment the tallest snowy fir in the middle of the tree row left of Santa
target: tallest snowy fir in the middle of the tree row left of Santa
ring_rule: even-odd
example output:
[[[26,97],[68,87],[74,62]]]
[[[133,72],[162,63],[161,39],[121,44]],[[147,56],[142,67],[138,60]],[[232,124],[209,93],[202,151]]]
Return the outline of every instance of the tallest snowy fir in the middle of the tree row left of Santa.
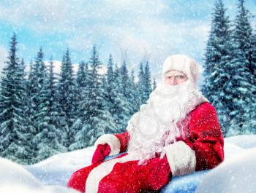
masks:
[[[89,67],[85,98],[81,103],[85,109],[82,118],[84,125],[76,122],[82,129],[75,135],[75,143],[70,146],[70,149],[91,146],[99,136],[115,127],[115,122],[111,119],[108,109],[104,109],[102,76],[98,72],[100,61],[96,47],[93,47]]]

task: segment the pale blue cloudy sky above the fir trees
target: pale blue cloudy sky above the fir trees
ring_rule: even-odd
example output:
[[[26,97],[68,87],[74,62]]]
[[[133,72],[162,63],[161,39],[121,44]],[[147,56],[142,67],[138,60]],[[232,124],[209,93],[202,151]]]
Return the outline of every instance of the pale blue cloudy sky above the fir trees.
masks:
[[[203,63],[214,0],[1,0],[0,68],[13,31],[18,35],[18,55],[26,63],[39,47],[45,60],[61,60],[69,47],[72,62],[89,60],[91,47],[99,48],[102,63],[111,52],[118,65],[125,59],[129,70],[149,60],[153,76],[168,55],[181,53]],[[236,15],[236,0],[225,0],[227,15]],[[256,1],[245,6],[256,15]],[[252,27],[255,30],[256,17]],[[255,32],[255,31],[254,31]]]

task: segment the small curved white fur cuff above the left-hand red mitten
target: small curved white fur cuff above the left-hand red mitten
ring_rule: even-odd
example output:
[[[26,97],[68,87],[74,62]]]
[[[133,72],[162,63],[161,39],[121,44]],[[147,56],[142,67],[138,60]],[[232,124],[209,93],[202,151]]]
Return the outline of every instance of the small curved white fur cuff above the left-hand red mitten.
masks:
[[[107,143],[110,146],[110,154],[109,155],[116,155],[120,151],[120,141],[119,139],[112,134],[105,134],[101,135],[97,141],[94,143],[94,148],[96,149],[99,144],[104,145]]]

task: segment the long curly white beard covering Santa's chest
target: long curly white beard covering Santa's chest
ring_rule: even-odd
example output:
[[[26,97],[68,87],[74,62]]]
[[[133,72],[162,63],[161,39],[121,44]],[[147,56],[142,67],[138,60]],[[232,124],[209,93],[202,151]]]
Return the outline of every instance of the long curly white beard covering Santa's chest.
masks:
[[[187,114],[203,101],[207,99],[189,80],[177,85],[160,83],[129,119],[128,154],[140,159],[139,164],[156,157],[156,153],[164,157],[163,147],[187,135]]]

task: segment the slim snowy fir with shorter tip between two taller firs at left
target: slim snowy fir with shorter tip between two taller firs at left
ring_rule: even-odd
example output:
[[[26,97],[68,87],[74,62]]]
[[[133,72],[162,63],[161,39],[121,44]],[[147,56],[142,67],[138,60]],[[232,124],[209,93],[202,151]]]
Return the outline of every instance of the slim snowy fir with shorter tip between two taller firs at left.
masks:
[[[65,133],[59,127],[56,127],[59,114],[55,103],[56,82],[53,76],[52,60],[49,67],[49,73],[46,74],[43,88],[39,93],[39,115],[37,116],[39,133],[33,139],[37,147],[37,162],[59,152],[66,151],[66,148],[62,145]]]

